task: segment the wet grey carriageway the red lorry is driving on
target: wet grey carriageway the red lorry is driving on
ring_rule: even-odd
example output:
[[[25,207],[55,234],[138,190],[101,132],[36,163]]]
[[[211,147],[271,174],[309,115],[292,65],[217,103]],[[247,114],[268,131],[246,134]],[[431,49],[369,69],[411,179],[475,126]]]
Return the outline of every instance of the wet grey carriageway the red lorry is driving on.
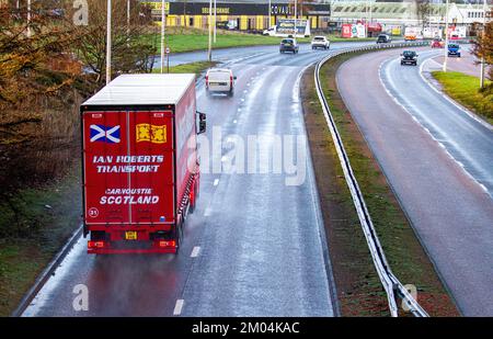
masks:
[[[238,49],[223,59],[238,76],[233,98],[208,98],[197,88],[197,109],[208,114],[202,150],[206,140],[217,146],[214,138],[222,145],[203,156],[200,197],[180,253],[96,257],[80,239],[24,316],[334,315],[299,98],[303,68],[331,50]],[[262,140],[256,145],[267,149],[266,158],[232,148],[249,137]],[[290,147],[296,156],[277,163],[275,156]],[[231,163],[240,165],[232,171]],[[72,307],[80,284],[88,287],[89,310]]]

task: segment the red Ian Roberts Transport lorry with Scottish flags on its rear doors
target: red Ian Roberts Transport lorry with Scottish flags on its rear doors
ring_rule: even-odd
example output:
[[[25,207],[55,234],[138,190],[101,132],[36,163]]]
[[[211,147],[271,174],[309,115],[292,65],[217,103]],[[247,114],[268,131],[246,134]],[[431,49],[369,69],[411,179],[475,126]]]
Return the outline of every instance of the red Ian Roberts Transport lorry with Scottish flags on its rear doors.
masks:
[[[199,189],[197,113],[194,75],[119,76],[81,105],[89,253],[177,252]]]

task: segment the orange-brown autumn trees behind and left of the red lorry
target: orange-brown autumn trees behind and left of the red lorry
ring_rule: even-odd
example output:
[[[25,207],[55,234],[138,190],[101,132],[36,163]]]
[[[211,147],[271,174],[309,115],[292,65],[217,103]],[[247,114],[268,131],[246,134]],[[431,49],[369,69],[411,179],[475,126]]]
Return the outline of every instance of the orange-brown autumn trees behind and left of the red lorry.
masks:
[[[71,5],[35,1],[31,34],[25,8],[0,9],[0,201],[66,173],[79,158],[79,105],[105,82],[104,2],[88,1],[81,26]],[[113,76],[150,71],[156,54],[139,39],[150,15],[133,0],[127,25],[126,2],[114,0]]]

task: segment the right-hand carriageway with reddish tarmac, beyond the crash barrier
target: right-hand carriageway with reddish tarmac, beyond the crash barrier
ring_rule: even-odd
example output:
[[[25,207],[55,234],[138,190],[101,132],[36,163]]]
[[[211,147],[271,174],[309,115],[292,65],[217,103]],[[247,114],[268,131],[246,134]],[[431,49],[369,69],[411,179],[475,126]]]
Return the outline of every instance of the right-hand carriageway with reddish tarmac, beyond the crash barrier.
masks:
[[[399,50],[351,59],[337,86],[460,310],[492,316],[493,132],[428,87],[437,52],[419,53],[419,67]]]

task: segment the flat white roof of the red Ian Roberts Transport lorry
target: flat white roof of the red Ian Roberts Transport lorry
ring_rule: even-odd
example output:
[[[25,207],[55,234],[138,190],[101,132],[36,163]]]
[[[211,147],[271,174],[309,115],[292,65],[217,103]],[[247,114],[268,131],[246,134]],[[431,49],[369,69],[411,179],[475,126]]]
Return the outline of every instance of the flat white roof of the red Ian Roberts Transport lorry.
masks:
[[[114,79],[82,105],[176,104],[195,75],[123,75]]]

